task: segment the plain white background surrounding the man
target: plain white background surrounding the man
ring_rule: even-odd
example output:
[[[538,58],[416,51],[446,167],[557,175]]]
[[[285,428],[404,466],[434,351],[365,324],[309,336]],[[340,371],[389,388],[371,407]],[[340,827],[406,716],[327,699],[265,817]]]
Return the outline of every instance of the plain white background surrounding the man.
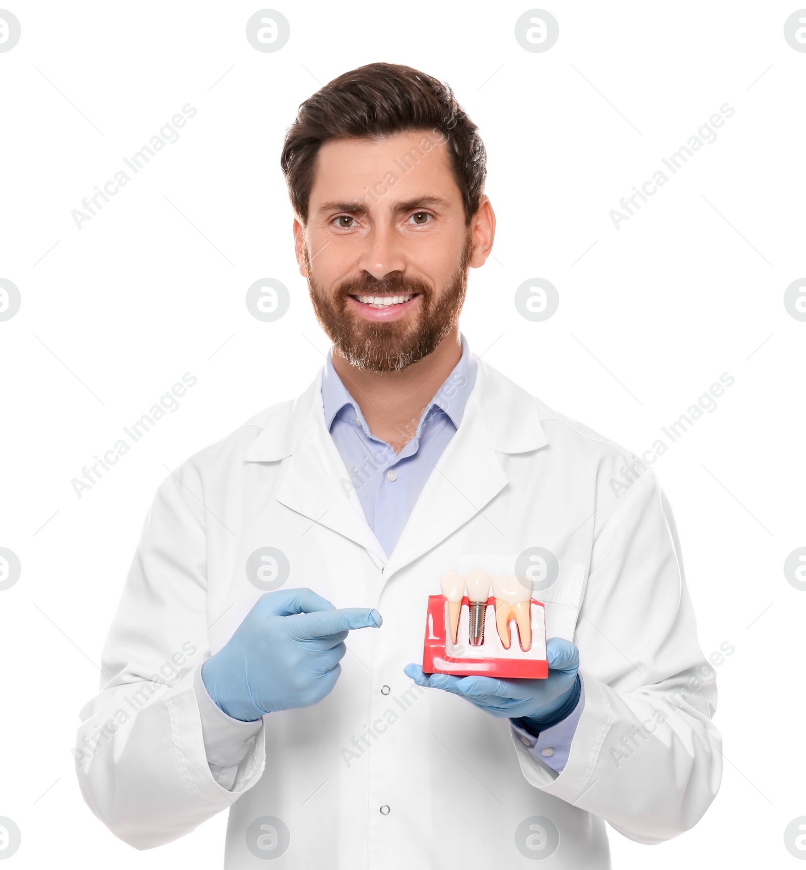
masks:
[[[474,351],[636,452],[735,377],[655,464],[702,649],[735,646],[717,672],[722,790],[676,840],[610,839],[618,868],[793,865],[806,593],[782,565],[806,545],[806,323],[782,298],[806,274],[806,53],[783,23],[799,7],[546,0],[560,38],[530,53],[514,39],[528,3],[278,0],[291,38],[260,53],[258,3],[3,3],[22,23],[0,53],[0,277],[22,294],[0,323],[0,545],[23,566],[0,592],[9,866],[221,865],[224,814],[149,853],[106,831],[77,787],[77,713],[159,482],[322,363],[280,145],[320,83],[377,60],[447,80],[487,145],[499,224],[462,319]],[[71,210],[187,103],[178,142],[78,230]],[[725,103],[718,139],[616,230],[608,211]],[[245,307],[263,277],[291,292],[275,323]],[[514,307],[533,277],[560,294],[543,323]],[[78,499],[71,479],[185,371],[179,410]]]

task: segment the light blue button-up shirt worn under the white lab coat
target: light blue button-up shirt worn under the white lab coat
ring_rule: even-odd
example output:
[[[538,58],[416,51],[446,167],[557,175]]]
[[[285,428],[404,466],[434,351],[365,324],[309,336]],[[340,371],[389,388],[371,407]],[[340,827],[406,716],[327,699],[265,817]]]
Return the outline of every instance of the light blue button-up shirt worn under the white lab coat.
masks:
[[[476,361],[464,336],[461,345],[461,358],[445,383],[423,408],[420,418],[413,419],[406,431],[400,432],[401,440],[412,436],[400,453],[369,431],[361,409],[333,367],[332,353],[327,355],[322,375],[325,424],[350,474],[366,522],[387,556],[397,544],[434,465],[459,428],[467,398],[473,391]],[[513,724],[516,739],[535,758],[561,773],[584,702],[583,686],[579,702],[565,719],[542,731],[537,738]]]

